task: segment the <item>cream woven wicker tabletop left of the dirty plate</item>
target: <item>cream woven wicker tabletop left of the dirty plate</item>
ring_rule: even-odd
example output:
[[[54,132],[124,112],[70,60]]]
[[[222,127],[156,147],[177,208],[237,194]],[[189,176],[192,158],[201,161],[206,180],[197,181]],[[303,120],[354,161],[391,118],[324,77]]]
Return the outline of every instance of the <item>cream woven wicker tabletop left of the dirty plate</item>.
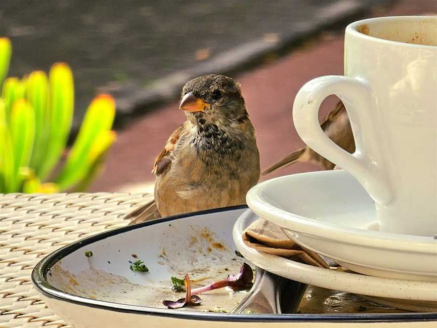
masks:
[[[71,327],[30,281],[33,266],[72,241],[127,224],[150,194],[0,194],[0,328]]]

